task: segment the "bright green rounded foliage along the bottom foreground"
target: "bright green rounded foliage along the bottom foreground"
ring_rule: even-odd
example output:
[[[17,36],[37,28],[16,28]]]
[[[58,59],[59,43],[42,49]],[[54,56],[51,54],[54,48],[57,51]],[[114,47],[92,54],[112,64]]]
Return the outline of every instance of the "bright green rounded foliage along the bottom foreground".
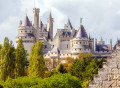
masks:
[[[45,79],[18,77],[0,81],[0,85],[4,88],[81,88],[79,79],[70,74],[57,74]]]

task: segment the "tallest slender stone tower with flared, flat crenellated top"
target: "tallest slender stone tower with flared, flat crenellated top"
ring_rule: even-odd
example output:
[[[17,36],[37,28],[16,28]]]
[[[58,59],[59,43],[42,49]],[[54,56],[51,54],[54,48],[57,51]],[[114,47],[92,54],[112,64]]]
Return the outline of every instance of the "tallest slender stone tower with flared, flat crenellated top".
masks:
[[[39,40],[39,8],[33,8],[36,42]]]

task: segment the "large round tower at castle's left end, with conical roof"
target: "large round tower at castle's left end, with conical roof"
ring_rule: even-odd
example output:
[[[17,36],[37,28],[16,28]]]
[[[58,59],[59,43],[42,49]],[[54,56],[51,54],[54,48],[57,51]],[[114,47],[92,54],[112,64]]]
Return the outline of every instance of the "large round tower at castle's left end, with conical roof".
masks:
[[[18,27],[18,35],[16,37],[16,43],[18,43],[18,40],[22,38],[24,48],[29,55],[31,46],[35,43],[35,36],[33,30],[34,27],[29,21],[28,16],[25,17],[24,24],[22,24],[22,21],[20,21],[20,26]]]

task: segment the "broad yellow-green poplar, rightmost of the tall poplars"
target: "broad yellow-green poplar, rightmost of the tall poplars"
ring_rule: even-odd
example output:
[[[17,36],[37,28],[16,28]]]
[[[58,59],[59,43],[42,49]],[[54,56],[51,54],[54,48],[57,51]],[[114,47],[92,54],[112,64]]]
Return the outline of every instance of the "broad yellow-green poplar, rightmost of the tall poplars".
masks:
[[[43,44],[38,41],[31,47],[31,55],[29,57],[29,76],[44,77],[45,61],[43,58]]]

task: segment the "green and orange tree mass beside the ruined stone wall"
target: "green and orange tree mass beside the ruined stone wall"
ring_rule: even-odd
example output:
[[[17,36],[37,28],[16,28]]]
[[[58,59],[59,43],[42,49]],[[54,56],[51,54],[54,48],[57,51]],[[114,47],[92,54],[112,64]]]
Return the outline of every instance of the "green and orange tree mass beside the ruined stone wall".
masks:
[[[104,59],[92,58],[91,54],[80,53],[78,59],[72,64],[70,73],[80,79],[82,87],[88,86],[88,82],[98,73],[98,68],[102,67]],[[85,86],[86,85],[86,86]]]

